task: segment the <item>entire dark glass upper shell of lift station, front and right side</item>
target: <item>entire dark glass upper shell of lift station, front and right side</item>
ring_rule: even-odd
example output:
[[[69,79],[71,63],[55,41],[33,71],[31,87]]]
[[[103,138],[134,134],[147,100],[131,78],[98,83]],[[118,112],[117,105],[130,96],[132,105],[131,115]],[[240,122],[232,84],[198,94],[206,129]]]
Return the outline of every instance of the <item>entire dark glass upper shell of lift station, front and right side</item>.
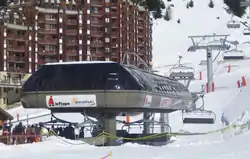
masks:
[[[144,90],[178,95],[187,88],[178,81],[118,63],[44,65],[23,91]]]

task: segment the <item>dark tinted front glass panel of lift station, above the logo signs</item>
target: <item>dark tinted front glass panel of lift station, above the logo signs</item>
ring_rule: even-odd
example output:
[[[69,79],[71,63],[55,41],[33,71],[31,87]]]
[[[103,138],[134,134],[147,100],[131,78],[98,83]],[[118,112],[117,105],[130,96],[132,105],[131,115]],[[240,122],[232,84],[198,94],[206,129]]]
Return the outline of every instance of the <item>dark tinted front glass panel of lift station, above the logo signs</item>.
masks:
[[[119,64],[44,65],[23,85],[23,91],[139,90]]]

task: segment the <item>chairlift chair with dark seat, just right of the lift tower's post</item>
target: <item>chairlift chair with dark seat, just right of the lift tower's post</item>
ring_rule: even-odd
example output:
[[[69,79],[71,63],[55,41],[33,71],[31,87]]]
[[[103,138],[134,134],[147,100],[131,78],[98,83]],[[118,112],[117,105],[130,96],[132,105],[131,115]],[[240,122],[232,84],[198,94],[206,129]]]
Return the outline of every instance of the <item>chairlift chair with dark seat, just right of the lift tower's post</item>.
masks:
[[[244,58],[245,58],[244,51],[237,49],[225,51],[223,54],[224,60],[243,60]]]

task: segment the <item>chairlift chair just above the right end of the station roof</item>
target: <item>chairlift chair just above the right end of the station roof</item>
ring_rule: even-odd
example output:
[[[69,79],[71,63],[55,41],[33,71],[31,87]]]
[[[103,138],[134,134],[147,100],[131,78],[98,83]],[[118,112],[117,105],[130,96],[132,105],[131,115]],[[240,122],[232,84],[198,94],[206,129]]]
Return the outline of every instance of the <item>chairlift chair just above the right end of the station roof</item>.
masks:
[[[180,65],[170,70],[169,77],[176,80],[194,79],[194,73],[194,68]]]

